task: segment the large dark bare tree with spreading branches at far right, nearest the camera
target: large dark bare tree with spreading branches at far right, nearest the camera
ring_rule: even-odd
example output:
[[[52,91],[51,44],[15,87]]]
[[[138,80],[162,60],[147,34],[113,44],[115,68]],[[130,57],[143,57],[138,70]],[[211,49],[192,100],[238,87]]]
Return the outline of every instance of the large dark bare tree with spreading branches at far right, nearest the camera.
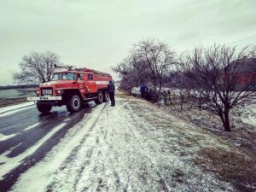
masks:
[[[225,131],[230,128],[230,109],[247,103],[255,92],[256,62],[247,48],[214,45],[195,49],[183,57],[181,71],[191,89],[201,91],[202,109],[220,117]],[[245,76],[246,75],[246,76]]]

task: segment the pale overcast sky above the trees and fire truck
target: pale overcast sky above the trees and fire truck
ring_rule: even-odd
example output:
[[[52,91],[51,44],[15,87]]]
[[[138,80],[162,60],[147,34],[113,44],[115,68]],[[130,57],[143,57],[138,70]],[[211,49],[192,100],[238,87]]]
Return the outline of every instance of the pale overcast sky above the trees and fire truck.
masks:
[[[110,73],[131,44],[148,37],[177,51],[256,44],[256,0],[2,0],[0,85],[13,84],[32,50]]]

